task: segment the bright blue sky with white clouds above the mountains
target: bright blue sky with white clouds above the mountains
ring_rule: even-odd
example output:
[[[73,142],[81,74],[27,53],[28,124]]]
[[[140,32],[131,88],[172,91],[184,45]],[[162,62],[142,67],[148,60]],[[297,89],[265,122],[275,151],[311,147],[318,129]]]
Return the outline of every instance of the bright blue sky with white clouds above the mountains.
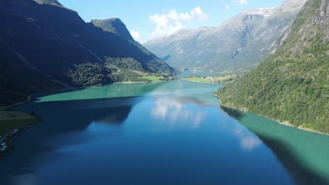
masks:
[[[144,43],[179,29],[218,27],[250,8],[279,6],[284,0],[58,0],[85,22],[120,18],[136,41]]]

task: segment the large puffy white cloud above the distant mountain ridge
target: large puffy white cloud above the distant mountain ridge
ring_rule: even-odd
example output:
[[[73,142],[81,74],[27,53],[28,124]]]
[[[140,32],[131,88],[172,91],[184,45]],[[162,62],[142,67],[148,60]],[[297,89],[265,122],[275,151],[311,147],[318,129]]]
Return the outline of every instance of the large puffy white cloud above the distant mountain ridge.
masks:
[[[208,16],[203,13],[202,9],[198,6],[189,13],[178,13],[172,9],[162,15],[154,14],[150,16],[150,22],[155,24],[155,30],[152,33],[152,38],[161,36],[168,36],[183,29],[186,24],[191,22],[204,22],[207,21]]]

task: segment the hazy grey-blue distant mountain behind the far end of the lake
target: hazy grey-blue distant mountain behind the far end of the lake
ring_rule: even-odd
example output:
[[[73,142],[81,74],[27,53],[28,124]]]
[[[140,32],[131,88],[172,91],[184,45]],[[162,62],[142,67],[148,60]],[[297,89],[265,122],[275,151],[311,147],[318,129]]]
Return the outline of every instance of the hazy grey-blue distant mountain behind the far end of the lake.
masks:
[[[271,46],[295,20],[306,0],[244,11],[219,27],[183,29],[143,44],[176,69],[221,73],[245,71],[271,53]]]

